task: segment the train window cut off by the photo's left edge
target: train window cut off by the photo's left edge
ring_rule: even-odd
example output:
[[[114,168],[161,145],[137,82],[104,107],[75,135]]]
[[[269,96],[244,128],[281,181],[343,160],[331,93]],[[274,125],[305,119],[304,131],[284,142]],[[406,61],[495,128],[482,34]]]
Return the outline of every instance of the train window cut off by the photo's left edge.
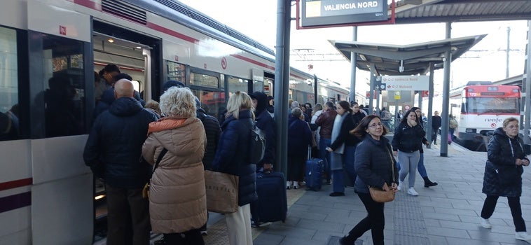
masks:
[[[0,141],[20,137],[17,33],[0,27]]]

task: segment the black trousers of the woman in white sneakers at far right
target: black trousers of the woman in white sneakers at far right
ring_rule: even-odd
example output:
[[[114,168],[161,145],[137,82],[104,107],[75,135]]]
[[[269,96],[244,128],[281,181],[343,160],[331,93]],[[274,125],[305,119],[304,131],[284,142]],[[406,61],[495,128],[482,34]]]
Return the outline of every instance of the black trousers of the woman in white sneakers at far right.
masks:
[[[499,196],[487,195],[485,202],[483,203],[483,209],[481,209],[481,218],[490,218]],[[511,209],[511,215],[513,216],[514,230],[516,232],[525,232],[525,221],[522,218],[522,207],[520,207],[520,197],[507,197],[509,208]]]

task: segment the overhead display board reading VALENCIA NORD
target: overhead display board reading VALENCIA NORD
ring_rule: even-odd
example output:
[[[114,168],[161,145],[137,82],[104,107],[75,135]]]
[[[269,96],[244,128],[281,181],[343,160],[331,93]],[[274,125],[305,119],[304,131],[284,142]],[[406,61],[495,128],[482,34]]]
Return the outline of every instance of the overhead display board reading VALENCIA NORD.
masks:
[[[387,0],[301,0],[302,27],[387,20]]]

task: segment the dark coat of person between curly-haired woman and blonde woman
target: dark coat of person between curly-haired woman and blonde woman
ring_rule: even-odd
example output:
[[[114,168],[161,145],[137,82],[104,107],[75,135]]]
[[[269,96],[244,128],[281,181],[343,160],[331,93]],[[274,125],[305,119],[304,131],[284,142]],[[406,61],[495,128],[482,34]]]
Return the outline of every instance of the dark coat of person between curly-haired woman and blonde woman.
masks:
[[[201,120],[203,127],[205,127],[205,132],[207,134],[207,148],[205,151],[205,157],[203,158],[203,165],[205,166],[205,169],[212,169],[212,161],[214,161],[219,137],[221,136],[221,127],[219,127],[218,120],[213,116],[208,115],[201,107],[198,107],[196,113]]]

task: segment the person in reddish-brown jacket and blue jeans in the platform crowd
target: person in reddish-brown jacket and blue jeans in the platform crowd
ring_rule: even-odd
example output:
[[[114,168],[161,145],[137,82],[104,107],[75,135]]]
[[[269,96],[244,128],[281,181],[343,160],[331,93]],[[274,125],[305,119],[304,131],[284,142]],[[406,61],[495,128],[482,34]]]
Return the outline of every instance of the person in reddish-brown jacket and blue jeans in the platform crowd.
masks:
[[[321,127],[319,131],[319,155],[324,161],[324,171],[326,172],[326,183],[330,184],[330,153],[326,151],[326,147],[332,144],[332,129],[333,121],[336,120],[338,113],[333,108],[333,102],[326,102],[324,104],[323,113],[319,115],[319,118],[315,121],[315,124]]]

